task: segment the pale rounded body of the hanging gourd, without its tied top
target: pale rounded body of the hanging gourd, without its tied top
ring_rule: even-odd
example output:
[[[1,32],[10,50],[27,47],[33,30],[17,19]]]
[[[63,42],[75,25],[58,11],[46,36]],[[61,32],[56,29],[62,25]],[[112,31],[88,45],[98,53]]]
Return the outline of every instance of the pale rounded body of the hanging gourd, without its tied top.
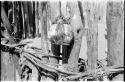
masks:
[[[48,31],[48,39],[57,45],[69,45],[73,39],[72,27],[70,24],[52,24]]]

